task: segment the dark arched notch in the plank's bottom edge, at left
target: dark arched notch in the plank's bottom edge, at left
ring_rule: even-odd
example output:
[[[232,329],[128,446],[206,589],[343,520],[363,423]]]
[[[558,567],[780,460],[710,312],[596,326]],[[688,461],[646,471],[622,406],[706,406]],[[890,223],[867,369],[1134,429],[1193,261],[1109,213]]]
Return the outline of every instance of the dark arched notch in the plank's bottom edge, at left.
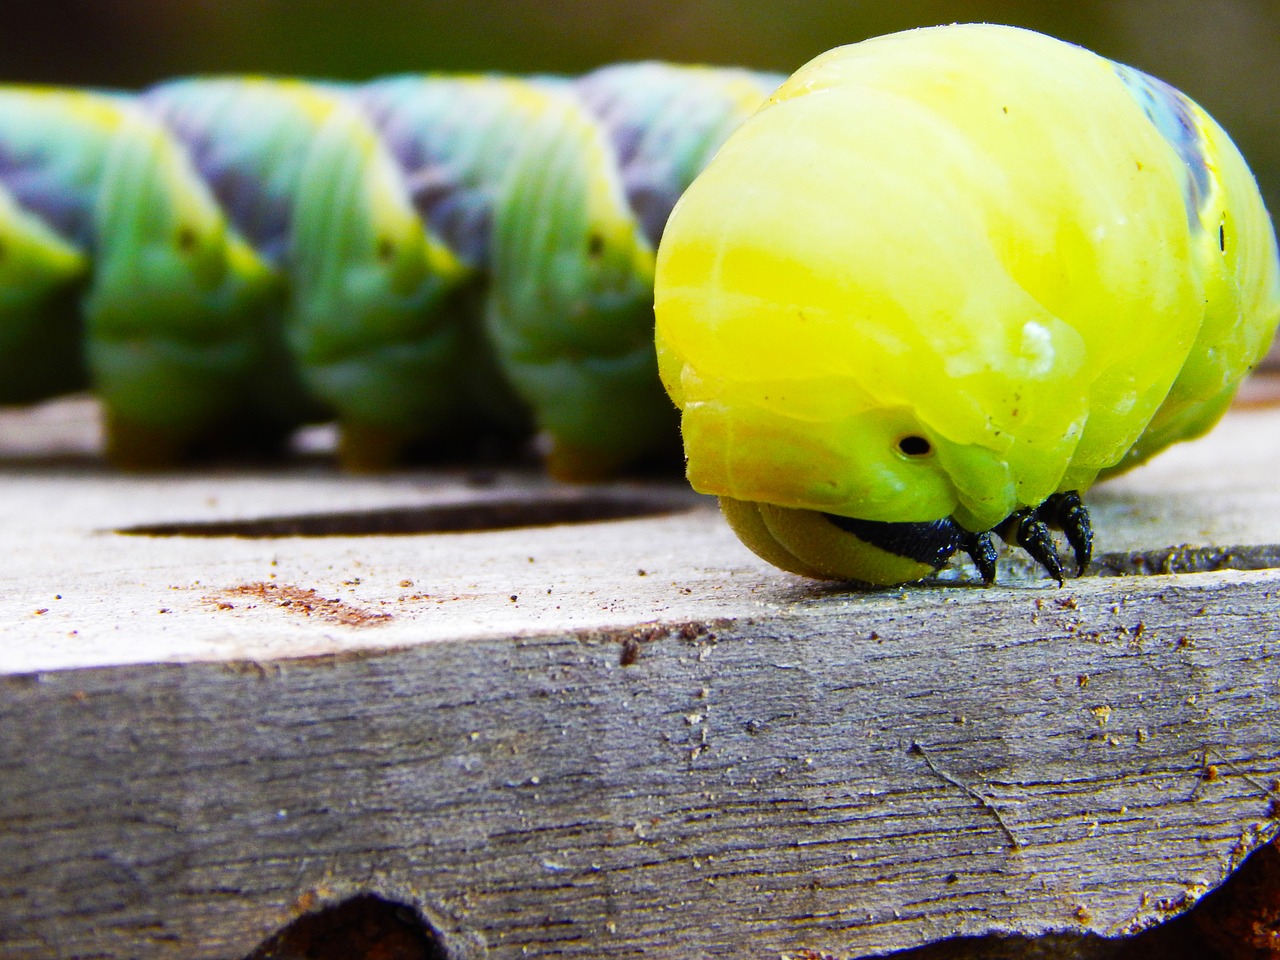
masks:
[[[244,960],[449,960],[440,934],[411,906],[372,893],[305,914]]]

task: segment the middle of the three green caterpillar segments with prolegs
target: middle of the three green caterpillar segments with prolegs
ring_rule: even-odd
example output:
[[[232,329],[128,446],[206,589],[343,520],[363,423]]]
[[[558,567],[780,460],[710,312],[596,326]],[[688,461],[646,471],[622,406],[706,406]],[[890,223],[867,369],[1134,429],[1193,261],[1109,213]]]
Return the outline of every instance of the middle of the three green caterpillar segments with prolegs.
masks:
[[[287,293],[274,356],[342,428],[352,468],[385,468],[448,422],[465,278],[413,209],[401,168],[344,92],[298,81],[195,79],[147,93]],[[257,118],[241,132],[246,116]],[[311,416],[308,416],[308,412]]]

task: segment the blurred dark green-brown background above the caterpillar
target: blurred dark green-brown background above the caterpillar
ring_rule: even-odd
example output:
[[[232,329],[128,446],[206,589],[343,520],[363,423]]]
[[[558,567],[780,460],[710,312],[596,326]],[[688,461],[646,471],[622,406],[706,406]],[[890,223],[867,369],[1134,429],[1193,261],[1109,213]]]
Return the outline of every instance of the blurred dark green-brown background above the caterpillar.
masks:
[[[357,79],[646,58],[791,70],[877,33],[1014,23],[1188,92],[1280,210],[1280,0],[10,0],[4,12],[0,79],[125,87],[184,73]]]

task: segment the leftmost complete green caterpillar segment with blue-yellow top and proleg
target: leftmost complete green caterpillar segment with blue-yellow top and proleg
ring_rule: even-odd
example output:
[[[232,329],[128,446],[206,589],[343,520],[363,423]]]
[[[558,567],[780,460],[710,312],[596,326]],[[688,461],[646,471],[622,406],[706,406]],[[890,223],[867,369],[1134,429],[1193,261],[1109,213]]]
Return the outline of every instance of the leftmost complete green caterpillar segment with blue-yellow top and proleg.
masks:
[[[122,96],[5,90],[0,143],[5,188],[88,261],[78,303],[49,320],[82,330],[60,349],[102,401],[109,454],[169,462],[247,413],[274,282],[166,129]]]

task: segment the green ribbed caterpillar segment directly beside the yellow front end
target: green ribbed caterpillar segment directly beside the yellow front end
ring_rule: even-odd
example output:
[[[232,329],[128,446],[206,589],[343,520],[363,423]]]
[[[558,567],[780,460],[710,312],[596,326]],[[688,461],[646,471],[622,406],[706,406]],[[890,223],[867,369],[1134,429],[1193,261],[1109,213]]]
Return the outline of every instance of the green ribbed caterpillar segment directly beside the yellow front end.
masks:
[[[549,471],[595,479],[676,430],[650,346],[654,251],[603,132],[571,90],[541,87],[498,195],[485,329],[549,434]]]

